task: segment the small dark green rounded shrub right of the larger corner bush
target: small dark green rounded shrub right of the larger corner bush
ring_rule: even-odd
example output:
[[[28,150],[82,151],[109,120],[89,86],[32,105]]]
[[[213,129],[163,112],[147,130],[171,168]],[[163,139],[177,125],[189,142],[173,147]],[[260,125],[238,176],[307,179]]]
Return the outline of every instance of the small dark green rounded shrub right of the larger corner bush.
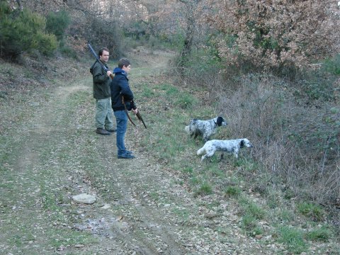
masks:
[[[62,40],[70,21],[71,18],[69,17],[69,13],[67,13],[67,11],[50,11],[46,18],[46,31],[57,36],[58,40]]]

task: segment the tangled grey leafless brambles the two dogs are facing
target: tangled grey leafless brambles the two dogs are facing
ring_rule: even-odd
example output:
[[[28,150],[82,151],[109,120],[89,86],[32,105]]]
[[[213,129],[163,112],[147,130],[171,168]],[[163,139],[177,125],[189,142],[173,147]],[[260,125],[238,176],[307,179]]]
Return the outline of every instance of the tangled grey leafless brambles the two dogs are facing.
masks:
[[[228,117],[229,138],[249,138],[259,171],[265,169],[300,197],[339,205],[339,109],[326,103],[306,107],[294,100],[287,82],[268,74],[247,75],[237,84],[225,89],[220,82],[211,91]]]

